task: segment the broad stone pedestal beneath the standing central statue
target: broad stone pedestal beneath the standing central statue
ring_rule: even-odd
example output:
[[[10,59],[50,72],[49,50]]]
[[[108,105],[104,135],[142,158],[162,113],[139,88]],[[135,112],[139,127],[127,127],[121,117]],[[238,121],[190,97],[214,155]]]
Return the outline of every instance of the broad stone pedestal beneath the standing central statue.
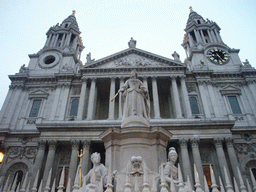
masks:
[[[150,170],[159,172],[171,133],[161,127],[110,128],[100,138],[106,148],[106,166],[112,171],[123,170],[132,156],[141,156]]]

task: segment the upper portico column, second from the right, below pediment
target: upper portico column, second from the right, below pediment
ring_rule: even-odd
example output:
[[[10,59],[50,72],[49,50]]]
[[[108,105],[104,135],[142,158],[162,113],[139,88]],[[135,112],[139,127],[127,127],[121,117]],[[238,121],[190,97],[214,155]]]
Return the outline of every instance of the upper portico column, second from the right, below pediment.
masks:
[[[179,96],[179,91],[177,87],[177,82],[175,76],[172,76],[172,93],[173,93],[173,103],[174,103],[174,108],[175,108],[175,113],[176,113],[176,118],[181,119],[182,118],[182,112],[181,112],[181,104],[180,104],[180,96]]]

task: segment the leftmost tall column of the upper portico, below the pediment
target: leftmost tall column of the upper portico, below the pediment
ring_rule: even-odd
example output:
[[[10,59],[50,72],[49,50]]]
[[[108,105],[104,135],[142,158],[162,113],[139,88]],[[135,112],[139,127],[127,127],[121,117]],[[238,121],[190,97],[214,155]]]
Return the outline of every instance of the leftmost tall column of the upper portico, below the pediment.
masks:
[[[82,88],[81,88],[79,105],[77,110],[77,120],[83,120],[83,117],[84,117],[86,90],[87,90],[87,79],[82,78]]]

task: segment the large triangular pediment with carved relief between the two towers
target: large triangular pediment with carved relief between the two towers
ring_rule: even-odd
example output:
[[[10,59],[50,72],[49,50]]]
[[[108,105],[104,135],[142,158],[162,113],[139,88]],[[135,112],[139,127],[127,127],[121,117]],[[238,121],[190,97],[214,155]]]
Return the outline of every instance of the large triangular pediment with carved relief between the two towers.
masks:
[[[86,63],[84,68],[186,67],[180,61],[137,48],[129,48],[108,57]]]

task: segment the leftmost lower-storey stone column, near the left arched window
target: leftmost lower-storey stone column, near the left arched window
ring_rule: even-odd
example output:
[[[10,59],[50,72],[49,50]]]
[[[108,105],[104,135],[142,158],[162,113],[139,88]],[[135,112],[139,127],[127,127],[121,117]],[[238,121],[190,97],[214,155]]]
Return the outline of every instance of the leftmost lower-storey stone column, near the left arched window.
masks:
[[[42,163],[43,163],[43,159],[44,159],[44,154],[45,154],[45,141],[38,141],[38,151],[36,154],[36,159],[35,159],[35,163],[33,165],[33,173],[32,173],[32,177],[31,177],[31,187],[34,184],[34,179],[36,177],[37,171],[41,169],[42,167]],[[41,170],[42,172],[42,170]],[[40,173],[40,171],[39,171]]]

